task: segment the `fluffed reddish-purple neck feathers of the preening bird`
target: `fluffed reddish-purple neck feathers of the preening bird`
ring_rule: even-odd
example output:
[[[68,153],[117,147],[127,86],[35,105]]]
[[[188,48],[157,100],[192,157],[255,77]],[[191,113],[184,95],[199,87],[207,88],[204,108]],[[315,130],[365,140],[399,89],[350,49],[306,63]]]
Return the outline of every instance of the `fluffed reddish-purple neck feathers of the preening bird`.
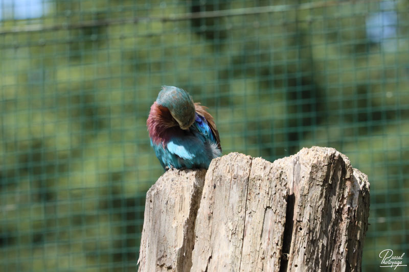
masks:
[[[154,102],[150,107],[146,126],[148,127],[149,137],[154,144],[165,144],[164,141],[169,135],[168,129],[178,126],[178,123],[172,117],[168,108]]]

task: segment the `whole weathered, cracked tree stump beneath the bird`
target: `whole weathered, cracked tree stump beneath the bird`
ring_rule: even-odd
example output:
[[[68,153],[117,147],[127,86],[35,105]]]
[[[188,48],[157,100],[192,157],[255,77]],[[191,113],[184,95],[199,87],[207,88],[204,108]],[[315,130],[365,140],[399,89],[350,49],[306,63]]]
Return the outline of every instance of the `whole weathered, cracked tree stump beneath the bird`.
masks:
[[[149,189],[139,271],[360,271],[368,215],[368,177],[334,149],[231,153]]]

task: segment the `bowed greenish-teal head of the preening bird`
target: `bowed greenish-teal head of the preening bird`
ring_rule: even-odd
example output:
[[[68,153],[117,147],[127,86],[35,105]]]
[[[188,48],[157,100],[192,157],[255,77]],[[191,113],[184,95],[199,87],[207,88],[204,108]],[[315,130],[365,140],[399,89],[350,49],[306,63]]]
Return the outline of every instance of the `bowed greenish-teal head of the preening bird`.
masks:
[[[192,97],[183,89],[174,86],[162,86],[156,103],[169,109],[170,114],[183,130],[189,129],[195,121],[195,105]]]

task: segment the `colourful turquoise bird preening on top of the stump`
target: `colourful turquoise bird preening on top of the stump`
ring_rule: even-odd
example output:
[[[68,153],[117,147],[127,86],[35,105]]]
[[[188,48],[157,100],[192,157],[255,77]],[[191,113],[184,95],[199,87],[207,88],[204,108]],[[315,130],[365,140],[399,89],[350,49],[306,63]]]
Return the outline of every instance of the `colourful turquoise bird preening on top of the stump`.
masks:
[[[165,170],[209,168],[222,154],[219,132],[207,107],[184,89],[162,86],[146,125],[150,144]]]

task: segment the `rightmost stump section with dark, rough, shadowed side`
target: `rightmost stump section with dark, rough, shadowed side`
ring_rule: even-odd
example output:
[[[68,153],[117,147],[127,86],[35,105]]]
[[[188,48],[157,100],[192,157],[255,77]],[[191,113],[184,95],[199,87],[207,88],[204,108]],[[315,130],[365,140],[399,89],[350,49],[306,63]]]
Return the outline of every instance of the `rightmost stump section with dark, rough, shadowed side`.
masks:
[[[368,177],[330,148],[312,147],[285,158],[294,194],[288,271],[360,271],[368,229]]]

